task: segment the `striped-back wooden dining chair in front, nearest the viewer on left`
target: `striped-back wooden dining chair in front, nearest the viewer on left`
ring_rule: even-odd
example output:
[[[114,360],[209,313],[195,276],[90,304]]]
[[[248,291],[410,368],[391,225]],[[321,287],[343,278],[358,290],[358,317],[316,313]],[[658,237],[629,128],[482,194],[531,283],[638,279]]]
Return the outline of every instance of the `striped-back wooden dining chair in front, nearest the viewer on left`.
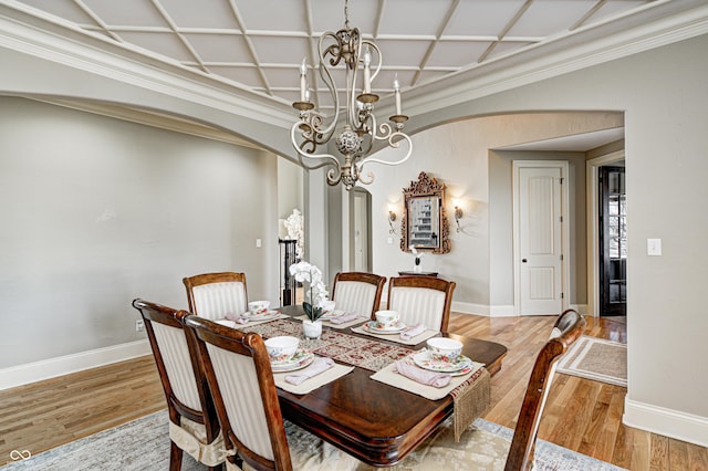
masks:
[[[263,338],[190,315],[191,341],[204,359],[226,448],[227,469],[354,470],[358,461],[293,423],[290,437],[306,437],[291,449]]]

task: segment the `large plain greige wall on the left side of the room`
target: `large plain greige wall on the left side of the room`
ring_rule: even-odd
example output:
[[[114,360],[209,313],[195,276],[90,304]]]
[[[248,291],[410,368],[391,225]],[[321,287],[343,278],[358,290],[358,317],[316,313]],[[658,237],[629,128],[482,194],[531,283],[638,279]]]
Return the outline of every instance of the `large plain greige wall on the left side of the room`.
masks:
[[[131,302],[186,308],[186,275],[275,303],[275,160],[0,97],[0,368],[145,338]]]

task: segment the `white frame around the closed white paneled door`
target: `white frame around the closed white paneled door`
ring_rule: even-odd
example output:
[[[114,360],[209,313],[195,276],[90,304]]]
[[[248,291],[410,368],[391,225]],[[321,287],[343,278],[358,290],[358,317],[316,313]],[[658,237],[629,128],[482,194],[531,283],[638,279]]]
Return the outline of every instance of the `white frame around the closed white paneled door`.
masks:
[[[566,310],[570,305],[570,219],[568,217],[568,209],[570,205],[570,190],[571,185],[569,176],[569,163],[568,160],[513,160],[512,163],[512,188],[513,188],[513,313],[517,316],[521,315],[521,228],[519,227],[519,168],[560,168],[563,178],[563,185],[561,185],[561,217],[563,218],[563,224],[561,224],[561,251],[563,253],[563,260],[561,261],[562,283],[563,283],[563,299],[561,300],[561,311]],[[560,314],[560,313],[559,313]]]

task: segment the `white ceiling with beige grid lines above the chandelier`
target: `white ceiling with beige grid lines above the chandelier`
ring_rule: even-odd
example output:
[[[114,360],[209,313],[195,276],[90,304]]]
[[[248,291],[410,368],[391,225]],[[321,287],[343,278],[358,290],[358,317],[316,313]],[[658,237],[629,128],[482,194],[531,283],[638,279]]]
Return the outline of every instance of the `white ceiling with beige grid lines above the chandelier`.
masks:
[[[63,22],[274,101],[299,98],[299,66],[310,65],[313,101],[332,103],[317,83],[317,40],[344,27],[344,0],[19,0],[32,14]],[[410,90],[534,45],[631,17],[649,0],[351,0],[350,25],[384,56],[374,93]],[[335,75],[343,86],[343,72]],[[316,85],[315,85],[316,84]],[[341,103],[344,101],[341,100]]]

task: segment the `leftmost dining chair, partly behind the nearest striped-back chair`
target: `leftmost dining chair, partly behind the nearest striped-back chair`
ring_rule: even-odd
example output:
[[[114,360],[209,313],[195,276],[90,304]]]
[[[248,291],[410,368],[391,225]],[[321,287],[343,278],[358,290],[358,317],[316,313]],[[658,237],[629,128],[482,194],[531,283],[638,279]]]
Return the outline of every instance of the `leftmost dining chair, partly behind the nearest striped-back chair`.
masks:
[[[204,369],[189,346],[185,311],[134,300],[133,306],[145,322],[145,331],[157,364],[169,414],[169,469],[181,469],[183,451],[210,470],[220,470],[226,460],[223,438]]]

